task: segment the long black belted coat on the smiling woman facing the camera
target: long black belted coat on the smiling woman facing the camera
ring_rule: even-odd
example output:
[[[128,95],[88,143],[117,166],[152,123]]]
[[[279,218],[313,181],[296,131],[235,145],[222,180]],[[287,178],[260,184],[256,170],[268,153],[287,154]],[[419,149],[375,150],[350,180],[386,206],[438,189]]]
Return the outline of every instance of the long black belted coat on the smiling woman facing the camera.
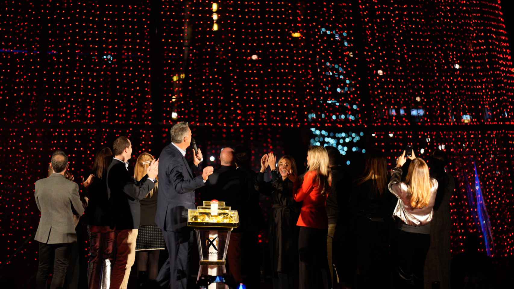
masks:
[[[271,182],[264,174],[255,177],[255,189],[272,198],[269,217],[269,245],[273,272],[294,274],[298,269],[298,227],[301,203],[293,199],[293,183],[282,180],[276,171],[271,172]]]

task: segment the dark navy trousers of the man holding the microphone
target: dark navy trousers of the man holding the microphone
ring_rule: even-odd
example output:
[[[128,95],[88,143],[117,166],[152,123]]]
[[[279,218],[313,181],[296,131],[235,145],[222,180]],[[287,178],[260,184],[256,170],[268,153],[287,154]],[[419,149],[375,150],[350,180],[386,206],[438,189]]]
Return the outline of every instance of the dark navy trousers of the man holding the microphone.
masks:
[[[166,278],[169,276],[171,288],[187,289],[193,231],[190,229],[182,232],[162,230],[162,235],[168,249],[168,260],[162,265],[156,281],[159,284],[166,284]]]

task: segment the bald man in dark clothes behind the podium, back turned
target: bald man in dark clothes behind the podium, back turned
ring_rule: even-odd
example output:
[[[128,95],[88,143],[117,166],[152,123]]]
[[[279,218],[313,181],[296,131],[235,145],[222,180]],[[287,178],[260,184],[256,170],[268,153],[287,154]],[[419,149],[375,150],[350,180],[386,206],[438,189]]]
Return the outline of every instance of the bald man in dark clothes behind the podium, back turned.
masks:
[[[241,242],[244,238],[246,215],[248,207],[248,180],[243,170],[236,170],[234,150],[225,147],[219,153],[221,166],[207,180],[205,191],[202,192],[203,200],[216,199],[225,201],[227,206],[237,210],[240,218],[240,226],[234,228],[230,235],[227,252],[228,274],[237,283],[242,282],[241,273]]]

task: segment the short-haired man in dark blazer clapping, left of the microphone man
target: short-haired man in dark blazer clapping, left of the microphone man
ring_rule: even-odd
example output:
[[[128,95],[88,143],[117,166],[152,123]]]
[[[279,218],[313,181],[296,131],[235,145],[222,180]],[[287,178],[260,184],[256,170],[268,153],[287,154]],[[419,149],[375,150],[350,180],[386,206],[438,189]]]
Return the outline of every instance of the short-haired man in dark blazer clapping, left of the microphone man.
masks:
[[[116,260],[111,273],[111,289],[125,289],[136,258],[136,238],[140,222],[139,200],[155,186],[159,162],[153,160],[146,176],[136,182],[128,172],[132,144],[126,137],[113,143],[113,162],[107,169],[107,195],[113,209],[116,230]]]

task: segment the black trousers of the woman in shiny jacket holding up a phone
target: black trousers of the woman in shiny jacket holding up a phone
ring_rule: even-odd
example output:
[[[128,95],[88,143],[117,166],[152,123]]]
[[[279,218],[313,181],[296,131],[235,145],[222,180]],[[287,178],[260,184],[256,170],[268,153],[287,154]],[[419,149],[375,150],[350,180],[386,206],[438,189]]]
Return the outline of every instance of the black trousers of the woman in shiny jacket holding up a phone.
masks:
[[[398,286],[423,288],[423,269],[430,247],[429,234],[398,230]]]

